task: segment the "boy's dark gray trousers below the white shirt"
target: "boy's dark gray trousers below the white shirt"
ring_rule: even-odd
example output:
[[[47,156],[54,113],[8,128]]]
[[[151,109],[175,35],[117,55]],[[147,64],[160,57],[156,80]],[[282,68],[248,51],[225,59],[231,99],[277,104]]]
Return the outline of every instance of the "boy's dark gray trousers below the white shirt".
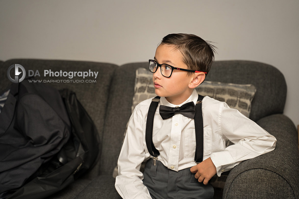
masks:
[[[190,167],[191,168],[191,167]],[[212,199],[214,189],[210,183],[198,182],[190,168],[178,172],[168,169],[161,161],[153,166],[149,159],[144,168],[143,184],[153,199]]]

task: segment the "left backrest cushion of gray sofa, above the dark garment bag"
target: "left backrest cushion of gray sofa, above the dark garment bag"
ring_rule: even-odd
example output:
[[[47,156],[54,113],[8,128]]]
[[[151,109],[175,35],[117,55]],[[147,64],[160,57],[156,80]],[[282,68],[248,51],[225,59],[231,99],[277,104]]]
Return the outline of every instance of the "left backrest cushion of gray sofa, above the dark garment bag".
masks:
[[[76,93],[78,100],[89,113],[94,121],[102,142],[102,133],[104,127],[104,117],[106,115],[107,100],[110,92],[110,85],[112,75],[116,68],[119,66],[109,63],[99,62],[85,62],[85,61],[67,61],[67,60],[40,60],[40,59],[11,59],[2,63],[0,68],[0,91],[8,87],[12,82],[7,78],[7,69],[13,64],[20,64],[25,68],[26,73],[28,70],[39,71],[40,77],[36,76],[35,79],[40,80],[70,80],[68,77],[44,77],[44,70],[51,71],[95,71],[98,72],[97,78],[87,78],[96,80],[96,82],[51,82],[48,85],[57,89],[68,88]],[[28,74],[27,74],[28,75]],[[74,77],[74,80],[82,80],[83,77]],[[25,81],[25,80],[24,80]],[[101,152],[101,151],[100,151]],[[99,166],[96,165],[89,175],[96,176],[99,173]]]

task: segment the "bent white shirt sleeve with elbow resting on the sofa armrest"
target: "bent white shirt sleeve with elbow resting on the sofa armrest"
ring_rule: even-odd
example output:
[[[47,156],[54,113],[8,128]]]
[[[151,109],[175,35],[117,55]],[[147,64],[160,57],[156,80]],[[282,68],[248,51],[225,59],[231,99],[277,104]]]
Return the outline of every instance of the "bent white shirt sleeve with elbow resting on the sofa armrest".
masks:
[[[243,160],[274,150],[276,145],[274,136],[236,109],[229,108],[226,103],[223,103],[219,118],[220,133],[234,145],[228,146],[224,151],[211,154],[218,176],[222,172],[231,170]]]

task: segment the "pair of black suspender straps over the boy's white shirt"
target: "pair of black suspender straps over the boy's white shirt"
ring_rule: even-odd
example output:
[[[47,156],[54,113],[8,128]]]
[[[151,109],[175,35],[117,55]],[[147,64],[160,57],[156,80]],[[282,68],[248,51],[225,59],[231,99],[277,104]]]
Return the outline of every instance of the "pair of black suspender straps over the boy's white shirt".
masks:
[[[196,151],[194,161],[196,163],[202,162],[203,159],[203,142],[204,142],[204,128],[203,128],[203,119],[202,119],[202,99],[204,96],[198,95],[198,99],[195,105],[195,116],[194,116],[194,126],[195,126],[195,138],[196,138]],[[160,155],[159,151],[155,148],[154,143],[152,142],[152,128],[154,124],[154,115],[158,107],[160,97],[157,96],[152,99],[151,104],[149,105],[149,111],[147,113],[147,124],[145,130],[145,142],[147,144],[147,150],[149,154],[154,157],[155,160]]]

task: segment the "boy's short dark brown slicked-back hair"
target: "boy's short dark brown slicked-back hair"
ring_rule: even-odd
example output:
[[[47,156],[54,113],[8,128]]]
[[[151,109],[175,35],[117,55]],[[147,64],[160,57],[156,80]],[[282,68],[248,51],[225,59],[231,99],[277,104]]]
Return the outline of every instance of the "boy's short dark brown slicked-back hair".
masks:
[[[189,70],[209,72],[214,61],[215,46],[193,34],[169,34],[161,44],[174,45],[183,55],[183,62]],[[187,72],[187,75],[193,74]]]

